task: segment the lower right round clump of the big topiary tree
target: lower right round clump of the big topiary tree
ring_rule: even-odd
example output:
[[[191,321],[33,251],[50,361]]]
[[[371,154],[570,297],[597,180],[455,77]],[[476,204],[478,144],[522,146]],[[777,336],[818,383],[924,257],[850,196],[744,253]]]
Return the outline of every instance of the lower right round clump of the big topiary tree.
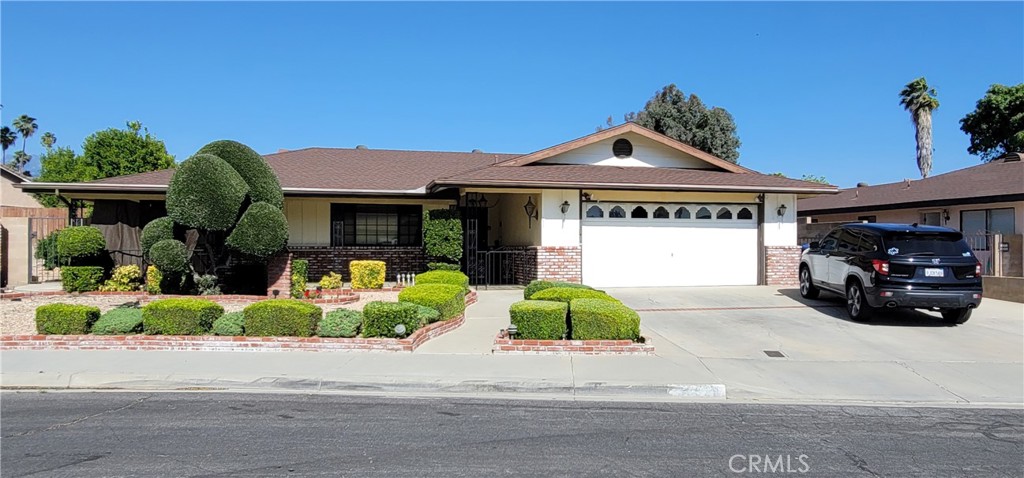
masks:
[[[253,203],[242,214],[226,244],[243,254],[266,259],[288,244],[288,219],[281,208]]]

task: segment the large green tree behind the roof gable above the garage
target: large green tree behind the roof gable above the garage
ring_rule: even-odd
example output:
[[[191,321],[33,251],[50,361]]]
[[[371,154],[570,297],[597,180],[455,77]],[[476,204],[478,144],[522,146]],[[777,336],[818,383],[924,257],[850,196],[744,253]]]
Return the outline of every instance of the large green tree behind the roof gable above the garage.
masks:
[[[739,137],[732,115],[724,108],[705,106],[695,94],[687,97],[676,85],[654,93],[632,121],[730,163],[739,162]]]

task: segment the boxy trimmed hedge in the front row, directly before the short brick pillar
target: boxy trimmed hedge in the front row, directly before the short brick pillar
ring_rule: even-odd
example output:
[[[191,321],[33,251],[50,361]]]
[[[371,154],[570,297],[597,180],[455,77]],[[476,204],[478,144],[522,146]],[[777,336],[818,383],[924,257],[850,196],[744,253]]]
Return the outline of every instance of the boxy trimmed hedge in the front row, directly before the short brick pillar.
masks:
[[[246,335],[257,337],[310,337],[324,316],[324,310],[294,299],[269,299],[244,310]]]

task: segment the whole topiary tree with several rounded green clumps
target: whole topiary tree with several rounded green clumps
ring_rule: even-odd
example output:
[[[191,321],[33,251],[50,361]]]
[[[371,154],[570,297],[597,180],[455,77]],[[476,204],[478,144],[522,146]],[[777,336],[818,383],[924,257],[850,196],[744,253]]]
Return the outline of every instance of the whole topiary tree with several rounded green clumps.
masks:
[[[167,217],[145,225],[141,246],[165,274],[222,276],[232,258],[262,262],[285,248],[284,204],[263,157],[237,141],[214,141],[175,170]],[[205,254],[194,257],[196,248]]]

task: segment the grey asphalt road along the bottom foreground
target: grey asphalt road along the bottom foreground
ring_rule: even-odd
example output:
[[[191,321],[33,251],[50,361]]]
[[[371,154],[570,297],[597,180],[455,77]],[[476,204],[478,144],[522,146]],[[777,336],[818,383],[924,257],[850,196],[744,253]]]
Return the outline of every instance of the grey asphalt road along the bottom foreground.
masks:
[[[4,477],[1024,476],[1020,409],[227,393],[0,399]]]

